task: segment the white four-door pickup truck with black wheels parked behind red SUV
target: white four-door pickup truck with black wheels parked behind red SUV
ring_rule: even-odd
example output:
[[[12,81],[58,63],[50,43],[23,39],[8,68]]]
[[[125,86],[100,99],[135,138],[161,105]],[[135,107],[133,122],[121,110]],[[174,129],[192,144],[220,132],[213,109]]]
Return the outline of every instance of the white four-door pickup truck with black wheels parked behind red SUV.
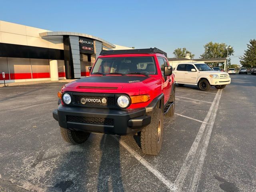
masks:
[[[204,63],[179,63],[174,70],[174,75],[176,83],[180,86],[197,85],[202,91],[209,90],[211,86],[223,89],[231,81],[228,73],[214,71]]]

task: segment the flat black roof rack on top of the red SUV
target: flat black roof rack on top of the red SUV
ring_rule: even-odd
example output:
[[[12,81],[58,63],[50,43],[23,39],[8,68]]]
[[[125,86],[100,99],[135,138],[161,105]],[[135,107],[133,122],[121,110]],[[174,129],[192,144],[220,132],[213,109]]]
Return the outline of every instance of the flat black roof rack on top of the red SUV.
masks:
[[[148,48],[148,49],[126,49],[126,50],[102,50],[100,55],[115,55],[115,54],[152,54],[160,53],[167,57],[167,53],[158,48]]]

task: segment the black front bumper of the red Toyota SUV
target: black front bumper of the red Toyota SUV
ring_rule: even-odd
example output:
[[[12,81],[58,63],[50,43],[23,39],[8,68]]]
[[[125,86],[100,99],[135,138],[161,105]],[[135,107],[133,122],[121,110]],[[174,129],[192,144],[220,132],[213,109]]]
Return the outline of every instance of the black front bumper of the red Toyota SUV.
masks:
[[[69,107],[60,104],[52,115],[60,127],[69,130],[114,135],[134,135],[151,122],[151,117],[146,116],[146,108],[120,110]]]

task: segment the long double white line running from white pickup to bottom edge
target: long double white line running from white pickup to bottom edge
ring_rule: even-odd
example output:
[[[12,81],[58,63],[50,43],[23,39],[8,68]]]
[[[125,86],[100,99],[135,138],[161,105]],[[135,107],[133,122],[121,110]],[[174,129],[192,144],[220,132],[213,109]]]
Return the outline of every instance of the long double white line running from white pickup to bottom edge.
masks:
[[[182,165],[176,180],[174,181],[174,185],[178,188],[178,190],[186,189],[186,191],[194,192],[197,190],[221,94],[222,89],[218,90],[214,101],[210,106],[210,110],[208,111],[204,122],[196,135],[196,139],[188,152],[186,160]]]

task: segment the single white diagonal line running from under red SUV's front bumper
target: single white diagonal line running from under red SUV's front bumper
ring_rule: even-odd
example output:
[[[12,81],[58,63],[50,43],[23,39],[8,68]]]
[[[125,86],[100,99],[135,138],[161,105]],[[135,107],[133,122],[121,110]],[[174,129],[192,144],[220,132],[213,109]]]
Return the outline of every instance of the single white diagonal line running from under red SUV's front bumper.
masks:
[[[174,184],[169,181],[162,173],[154,169],[142,156],[140,156],[136,151],[130,148],[124,141],[113,136],[134,158],[136,158],[142,165],[144,165],[150,172],[152,172],[170,191],[176,191]]]

